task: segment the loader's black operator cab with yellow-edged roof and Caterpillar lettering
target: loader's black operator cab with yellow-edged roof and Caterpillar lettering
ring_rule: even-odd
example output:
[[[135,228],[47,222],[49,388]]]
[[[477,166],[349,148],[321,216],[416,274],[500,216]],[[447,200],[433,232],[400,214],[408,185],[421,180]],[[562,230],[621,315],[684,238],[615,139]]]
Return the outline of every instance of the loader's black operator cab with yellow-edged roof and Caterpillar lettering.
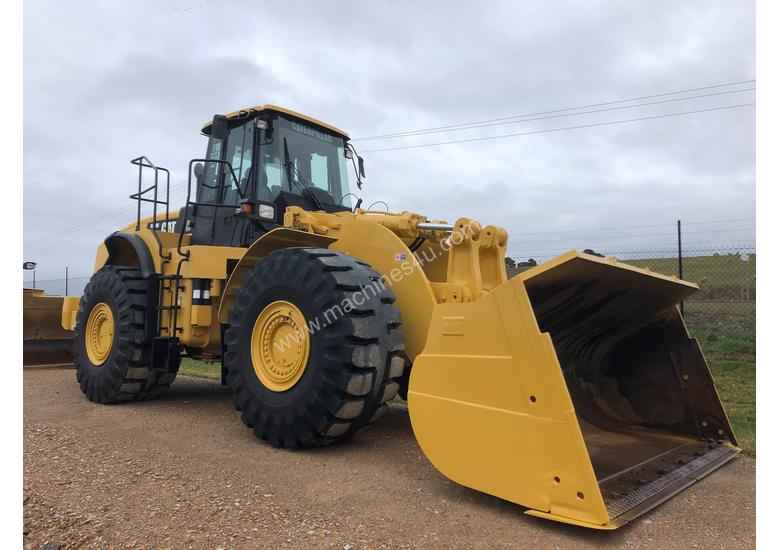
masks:
[[[195,165],[192,243],[249,246],[282,225],[288,206],[352,209],[349,137],[305,115],[264,105],[217,115],[203,127],[206,157]]]

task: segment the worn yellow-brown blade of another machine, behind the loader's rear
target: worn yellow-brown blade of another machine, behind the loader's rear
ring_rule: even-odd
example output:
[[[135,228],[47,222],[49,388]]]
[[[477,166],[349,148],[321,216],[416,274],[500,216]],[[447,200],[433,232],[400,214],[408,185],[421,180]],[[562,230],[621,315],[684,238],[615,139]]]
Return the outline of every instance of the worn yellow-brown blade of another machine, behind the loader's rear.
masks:
[[[25,288],[22,361],[25,367],[73,366],[73,333],[62,328],[63,296]]]

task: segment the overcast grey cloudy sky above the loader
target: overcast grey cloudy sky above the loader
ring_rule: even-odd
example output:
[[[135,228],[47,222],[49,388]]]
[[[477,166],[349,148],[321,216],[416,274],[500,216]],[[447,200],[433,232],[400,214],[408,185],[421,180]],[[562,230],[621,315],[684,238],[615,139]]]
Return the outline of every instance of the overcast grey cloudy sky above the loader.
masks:
[[[173,183],[186,179],[215,113],[274,103],[359,138],[755,77],[752,2],[421,4],[27,0],[24,256],[38,262],[38,279],[65,265],[89,274],[100,241],[134,219],[129,160],[145,154]],[[370,151],[754,100],[743,91],[354,144]],[[364,156],[364,205],[501,225],[518,258],[671,248],[677,219],[755,217],[754,107]],[[653,227],[601,229],[624,226]],[[751,243],[752,227],[696,223],[686,242]]]

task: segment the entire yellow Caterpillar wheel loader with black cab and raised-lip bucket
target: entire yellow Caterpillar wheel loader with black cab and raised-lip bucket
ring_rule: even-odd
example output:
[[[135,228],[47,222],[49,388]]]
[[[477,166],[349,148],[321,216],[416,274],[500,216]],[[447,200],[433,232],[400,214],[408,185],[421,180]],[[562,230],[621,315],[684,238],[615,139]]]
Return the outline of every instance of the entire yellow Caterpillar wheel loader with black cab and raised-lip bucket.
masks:
[[[677,308],[696,285],[575,251],[508,280],[498,226],[352,204],[363,162],[333,126],[265,105],[203,134],[176,213],[168,171],[133,161],[138,217],[66,299],[89,399],[154,396],[182,353],[221,359],[254,434],[305,447],[398,393],[444,475],[597,529],[739,451]]]

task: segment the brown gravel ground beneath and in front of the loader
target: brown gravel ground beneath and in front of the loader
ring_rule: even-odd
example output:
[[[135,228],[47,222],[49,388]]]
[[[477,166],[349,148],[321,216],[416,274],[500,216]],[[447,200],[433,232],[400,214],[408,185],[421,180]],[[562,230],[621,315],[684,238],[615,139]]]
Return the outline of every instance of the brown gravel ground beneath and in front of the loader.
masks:
[[[755,462],[738,458],[614,532],[532,518],[452,482],[403,408],[355,441],[306,451],[256,440],[218,383],[87,401],[71,370],[24,373],[29,548],[748,548]]]

